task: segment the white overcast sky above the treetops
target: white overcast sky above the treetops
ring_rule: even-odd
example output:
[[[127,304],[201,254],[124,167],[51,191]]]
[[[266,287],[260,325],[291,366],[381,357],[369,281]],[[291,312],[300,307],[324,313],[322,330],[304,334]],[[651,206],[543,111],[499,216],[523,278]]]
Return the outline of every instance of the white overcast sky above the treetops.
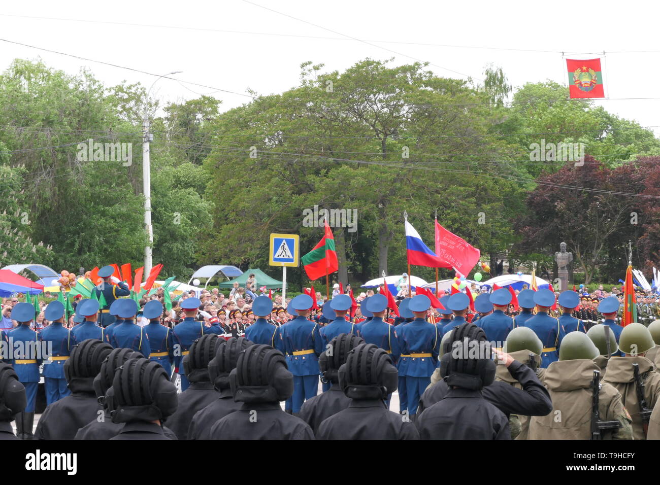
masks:
[[[653,1],[583,3],[578,1],[266,1],[254,3],[306,20],[329,32],[242,0],[213,1],[22,1],[3,5],[0,38],[164,74],[215,88],[259,94],[282,92],[298,84],[303,61],[325,63],[328,71],[343,71],[365,57],[397,64],[429,61],[436,74],[460,77],[458,71],[481,78],[488,63],[502,66],[513,86],[552,79],[566,84],[561,51],[608,53],[603,65],[605,92],[610,98],[660,98],[660,5]],[[19,18],[35,16],[87,22]],[[92,22],[90,22],[92,21]],[[168,26],[156,28],[98,22]],[[176,27],[176,28],[173,28]],[[209,32],[186,28],[262,32],[321,38],[296,38]],[[345,35],[341,35],[345,34]],[[345,36],[367,40],[347,39]],[[342,38],[344,40],[331,40]],[[374,41],[451,44],[482,48],[447,48]],[[528,52],[483,47],[541,49]],[[388,51],[397,51],[399,55]],[[614,53],[614,51],[653,51]],[[410,57],[405,57],[405,56]],[[55,53],[0,42],[0,67],[16,57],[41,57],[49,66],[77,73],[87,66],[106,85],[123,80],[147,88],[155,77]],[[414,59],[411,59],[413,57]],[[598,55],[573,54],[576,59]],[[161,80],[154,92],[177,102],[209,94],[211,89]],[[196,94],[197,93],[197,94]],[[224,108],[249,98],[215,92]],[[660,133],[660,99],[597,102],[612,112],[635,119]]]

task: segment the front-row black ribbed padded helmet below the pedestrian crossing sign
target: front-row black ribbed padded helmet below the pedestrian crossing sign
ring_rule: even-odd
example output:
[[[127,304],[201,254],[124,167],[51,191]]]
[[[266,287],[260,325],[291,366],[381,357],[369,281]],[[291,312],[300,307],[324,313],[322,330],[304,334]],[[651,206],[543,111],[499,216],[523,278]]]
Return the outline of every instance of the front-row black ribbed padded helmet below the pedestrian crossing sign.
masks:
[[[240,352],[229,374],[234,401],[275,403],[293,394],[293,375],[284,355],[270,345],[252,345]]]

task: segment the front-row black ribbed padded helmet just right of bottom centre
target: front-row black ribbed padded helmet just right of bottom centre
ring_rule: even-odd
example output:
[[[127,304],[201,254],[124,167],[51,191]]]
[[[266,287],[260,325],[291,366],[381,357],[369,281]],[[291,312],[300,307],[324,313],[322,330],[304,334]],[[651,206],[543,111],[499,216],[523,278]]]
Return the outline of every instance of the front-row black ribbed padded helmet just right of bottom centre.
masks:
[[[351,399],[385,399],[397,390],[399,372],[391,357],[374,344],[360,344],[348,352],[339,368],[339,385]]]

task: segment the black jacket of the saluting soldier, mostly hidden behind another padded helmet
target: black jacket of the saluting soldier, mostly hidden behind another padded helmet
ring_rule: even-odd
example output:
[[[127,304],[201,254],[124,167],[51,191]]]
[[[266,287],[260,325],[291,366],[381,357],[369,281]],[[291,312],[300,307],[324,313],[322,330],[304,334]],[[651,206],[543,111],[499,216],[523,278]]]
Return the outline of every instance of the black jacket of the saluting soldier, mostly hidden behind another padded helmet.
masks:
[[[533,370],[517,360],[512,362],[508,370],[512,377],[523,386],[523,389],[517,389],[502,381],[494,381],[482,389],[482,395],[486,401],[504,412],[507,418],[511,414],[545,416],[552,412],[552,399],[550,399],[548,390],[539,381]],[[448,390],[445,381],[438,381],[426,389],[419,400],[417,415],[421,417],[422,411],[440,402],[447,395]]]

